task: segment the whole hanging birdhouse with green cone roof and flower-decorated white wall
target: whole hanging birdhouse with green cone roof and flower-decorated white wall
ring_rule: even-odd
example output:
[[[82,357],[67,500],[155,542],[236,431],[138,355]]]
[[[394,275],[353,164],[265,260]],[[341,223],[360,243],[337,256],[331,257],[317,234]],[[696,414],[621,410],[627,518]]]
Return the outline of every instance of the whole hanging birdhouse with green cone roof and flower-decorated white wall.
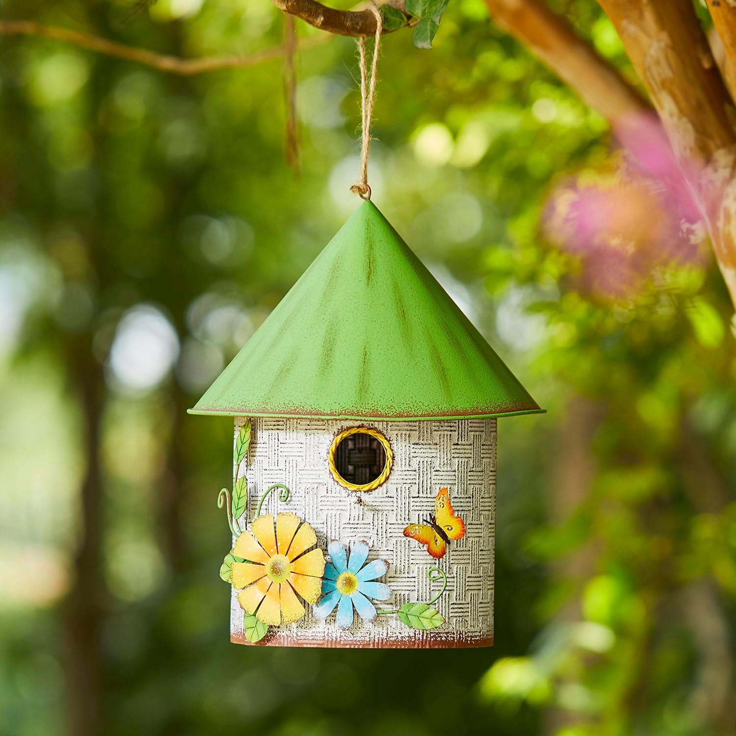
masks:
[[[496,420],[540,411],[363,202],[191,410],[235,418],[230,639],[491,645]]]

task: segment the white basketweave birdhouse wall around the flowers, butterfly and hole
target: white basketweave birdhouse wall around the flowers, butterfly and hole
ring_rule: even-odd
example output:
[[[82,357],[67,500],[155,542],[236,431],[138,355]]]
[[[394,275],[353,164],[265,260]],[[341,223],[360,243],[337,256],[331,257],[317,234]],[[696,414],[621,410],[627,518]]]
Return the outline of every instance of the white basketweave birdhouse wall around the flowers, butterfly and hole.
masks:
[[[244,422],[245,417],[236,417],[236,437]],[[256,417],[251,422],[247,456],[235,468],[237,477],[247,478],[248,506],[241,528],[246,519],[254,517],[263,492],[272,484],[285,484],[289,499],[281,502],[277,493],[271,493],[261,514],[296,514],[314,528],[316,547],[325,552],[328,561],[328,545],[336,539],[347,549],[358,540],[367,542],[366,564],[375,559],[389,562],[380,581],[388,584],[391,597],[372,601],[379,612],[396,612],[405,604],[432,601],[442,580],[428,578],[431,568],[439,567],[447,577],[445,592],[432,603],[444,619],[434,628],[420,630],[408,626],[398,615],[379,614],[372,621],[355,615],[352,625],[342,629],[334,613],[319,620],[313,606],[305,605],[306,614],[297,623],[272,627],[259,643],[370,648],[492,644],[495,419],[356,422]],[[351,427],[377,430],[391,445],[389,477],[369,492],[344,488],[329,470],[333,439]],[[431,517],[443,488],[454,514],[464,522],[465,533],[448,540],[444,555],[436,559],[427,545],[405,536],[404,530]],[[234,589],[230,637],[233,642],[248,643],[244,611]]]

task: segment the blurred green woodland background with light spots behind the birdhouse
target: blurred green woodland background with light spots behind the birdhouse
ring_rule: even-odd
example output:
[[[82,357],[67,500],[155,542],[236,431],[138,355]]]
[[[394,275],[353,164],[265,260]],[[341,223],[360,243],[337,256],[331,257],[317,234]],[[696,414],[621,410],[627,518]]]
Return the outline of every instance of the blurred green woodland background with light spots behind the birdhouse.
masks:
[[[281,43],[267,0],[131,4],[0,13]],[[562,5],[634,79],[595,2]],[[185,410],[359,201],[355,43],[298,26],[300,177],[278,59],[183,78],[0,39],[0,733],[732,734],[732,306],[656,132],[652,175],[482,0],[431,51],[384,39],[370,181],[549,410],[499,422],[496,645],[229,643],[231,423]]]

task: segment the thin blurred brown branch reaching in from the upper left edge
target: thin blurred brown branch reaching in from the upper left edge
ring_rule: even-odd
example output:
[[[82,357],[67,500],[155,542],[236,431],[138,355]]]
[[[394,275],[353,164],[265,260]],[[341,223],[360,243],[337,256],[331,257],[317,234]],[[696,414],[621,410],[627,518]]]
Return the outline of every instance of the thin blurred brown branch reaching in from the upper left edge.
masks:
[[[36,21],[0,21],[0,35],[31,35],[63,41],[64,43],[74,43],[75,46],[82,46],[85,49],[91,49],[100,54],[107,54],[107,56],[114,56],[118,59],[145,64],[159,71],[180,74],[182,77],[191,77],[194,74],[204,74],[208,71],[253,66],[262,61],[280,57],[284,53],[283,46],[275,46],[272,49],[263,49],[263,51],[248,54],[247,56],[210,56],[201,59],[183,59],[167,54],[157,54],[146,51],[146,49],[138,49],[135,46],[125,46],[123,43],[116,43],[116,41],[110,41],[106,38],[99,38],[99,36],[89,35],[88,33],[82,33],[68,28],[44,26]],[[305,49],[316,46],[319,43],[324,43],[329,38],[329,36],[317,36],[302,41],[300,48]]]

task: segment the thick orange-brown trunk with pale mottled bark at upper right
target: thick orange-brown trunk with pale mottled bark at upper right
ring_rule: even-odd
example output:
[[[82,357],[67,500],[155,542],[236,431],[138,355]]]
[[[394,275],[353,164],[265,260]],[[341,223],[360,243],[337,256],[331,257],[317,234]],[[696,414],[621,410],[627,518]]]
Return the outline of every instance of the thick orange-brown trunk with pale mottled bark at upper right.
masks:
[[[690,0],[598,2],[657,108],[736,305],[735,111],[693,5]]]

